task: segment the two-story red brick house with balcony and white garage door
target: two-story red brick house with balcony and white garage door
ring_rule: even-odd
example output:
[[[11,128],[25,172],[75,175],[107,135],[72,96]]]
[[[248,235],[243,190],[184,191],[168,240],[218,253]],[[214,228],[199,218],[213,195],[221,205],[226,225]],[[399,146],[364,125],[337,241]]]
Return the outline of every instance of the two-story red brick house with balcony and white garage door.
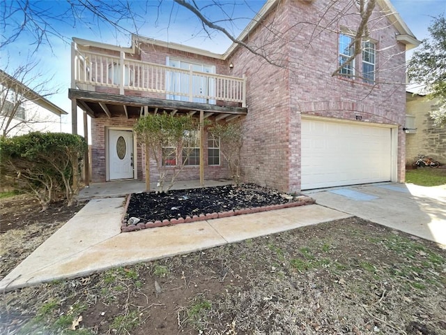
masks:
[[[162,111],[243,122],[245,182],[294,192],[404,181],[405,52],[419,42],[377,0],[363,52],[339,66],[359,22],[357,0],[266,1],[239,39],[265,45],[258,52],[279,66],[237,44],[214,54],[141,36],[130,47],[73,38],[69,98],[75,119],[76,106],[92,118],[93,182],[144,178],[132,126]],[[180,179],[228,176],[202,131],[203,161],[191,159]],[[153,163],[150,172],[156,180]]]

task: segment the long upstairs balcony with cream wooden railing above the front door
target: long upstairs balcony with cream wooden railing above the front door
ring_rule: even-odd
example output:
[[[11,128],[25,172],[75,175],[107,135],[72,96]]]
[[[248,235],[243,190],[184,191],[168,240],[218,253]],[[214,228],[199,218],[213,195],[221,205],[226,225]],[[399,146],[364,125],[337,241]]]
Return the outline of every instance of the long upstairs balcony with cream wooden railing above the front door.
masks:
[[[70,98],[79,99],[82,94],[75,91],[85,91],[88,96],[92,92],[112,94],[115,100],[116,95],[123,96],[123,103],[140,105],[141,111],[143,106],[171,110],[184,107],[229,114],[233,114],[232,109],[236,114],[246,114],[245,77],[126,59],[126,52],[106,51],[80,50],[73,43]]]

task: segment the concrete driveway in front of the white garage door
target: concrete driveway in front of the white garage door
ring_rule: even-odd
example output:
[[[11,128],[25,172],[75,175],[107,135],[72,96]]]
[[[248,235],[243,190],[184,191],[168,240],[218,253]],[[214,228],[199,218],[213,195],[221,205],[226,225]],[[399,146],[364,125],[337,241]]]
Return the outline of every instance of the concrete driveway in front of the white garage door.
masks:
[[[380,183],[303,192],[317,204],[446,247],[446,185]]]

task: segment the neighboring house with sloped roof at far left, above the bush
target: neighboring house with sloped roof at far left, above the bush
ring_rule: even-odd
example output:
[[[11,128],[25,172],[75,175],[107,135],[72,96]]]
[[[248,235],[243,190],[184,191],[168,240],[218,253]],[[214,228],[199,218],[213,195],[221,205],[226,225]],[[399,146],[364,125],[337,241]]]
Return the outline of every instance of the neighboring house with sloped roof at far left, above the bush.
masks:
[[[5,129],[7,136],[31,131],[60,133],[63,114],[68,113],[0,70],[0,135]]]

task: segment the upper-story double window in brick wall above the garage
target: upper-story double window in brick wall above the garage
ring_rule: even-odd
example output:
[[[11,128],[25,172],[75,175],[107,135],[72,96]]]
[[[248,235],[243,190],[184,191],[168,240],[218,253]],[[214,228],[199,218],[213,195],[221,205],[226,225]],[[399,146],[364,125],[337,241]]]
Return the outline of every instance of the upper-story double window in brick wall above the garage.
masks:
[[[353,36],[339,34],[339,75],[351,79],[360,78],[362,82],[374,84],[376,81],[376,43],[363,40],[361,49],[361,52],[355,55]]]

